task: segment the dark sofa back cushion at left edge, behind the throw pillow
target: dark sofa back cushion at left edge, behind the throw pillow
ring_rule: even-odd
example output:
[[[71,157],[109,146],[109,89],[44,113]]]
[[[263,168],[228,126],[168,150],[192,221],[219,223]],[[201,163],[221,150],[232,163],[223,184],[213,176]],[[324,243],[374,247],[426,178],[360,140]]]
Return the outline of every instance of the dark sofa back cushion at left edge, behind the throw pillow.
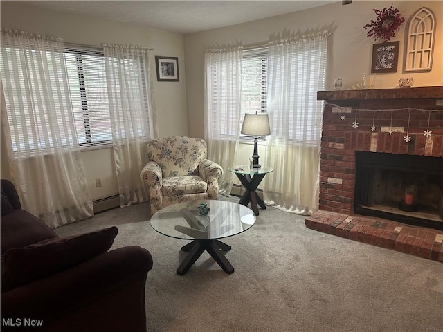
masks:
[[[43,221],[25,210],[13,210],[1,216],[1,255],[10,248],[21,248],[58,237]]]

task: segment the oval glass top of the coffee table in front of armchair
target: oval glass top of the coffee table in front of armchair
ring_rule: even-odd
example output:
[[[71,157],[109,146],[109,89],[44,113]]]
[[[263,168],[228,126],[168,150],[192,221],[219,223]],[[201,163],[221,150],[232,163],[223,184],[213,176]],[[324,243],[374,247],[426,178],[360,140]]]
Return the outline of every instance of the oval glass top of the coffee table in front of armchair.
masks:
[[[200,203],[208,204],[208,215],[199,216]],[[154,230],[176,239],[222,239],[244,232],[254,223],[255,214],[246,206],[215,200],[169,205],[151,217]]]

